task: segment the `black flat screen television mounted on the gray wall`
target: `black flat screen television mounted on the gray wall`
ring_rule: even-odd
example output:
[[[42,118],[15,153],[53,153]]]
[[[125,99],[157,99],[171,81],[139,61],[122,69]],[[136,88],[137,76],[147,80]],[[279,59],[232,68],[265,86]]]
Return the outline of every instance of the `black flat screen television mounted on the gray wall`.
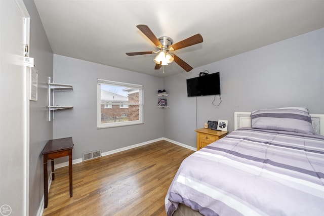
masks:
[[[219,72],[187,79],[188,97],[220,95]]]

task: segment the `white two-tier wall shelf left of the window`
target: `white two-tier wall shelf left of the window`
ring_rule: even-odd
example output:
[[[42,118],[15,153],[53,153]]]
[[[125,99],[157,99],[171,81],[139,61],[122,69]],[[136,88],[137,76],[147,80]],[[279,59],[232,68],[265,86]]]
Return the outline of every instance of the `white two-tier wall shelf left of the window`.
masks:
[[[62,109],[71,109],[73,106],[55,106],[54,105],[54,93],[59,91],[73,91],[73,87],[70,84],[59,84],[51,82],[51,77],[48,77],[48,84],[49,84],[49,90],[48,90],[48,98],[49,98],[49,121],[51,121],[51,118],[54,119],[54,110],[62,110]],[[53,111],[53,112],[51,112]],[[52,114],[52,116],[51,116]]]

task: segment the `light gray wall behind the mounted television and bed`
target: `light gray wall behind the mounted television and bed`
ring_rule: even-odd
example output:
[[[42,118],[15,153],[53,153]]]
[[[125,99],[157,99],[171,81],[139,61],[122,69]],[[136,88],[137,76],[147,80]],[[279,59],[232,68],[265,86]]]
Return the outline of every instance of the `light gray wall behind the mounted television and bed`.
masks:
[[[225,119],[233,131],[234,111],[306,106],[310,113],[324,113],[323,38],[324,29],[319,29],[165,78],[170,108],[165,113],[164,136],[196,147],[194,129],[208,120]],[[220,71],[218,107],[212,105],[214,96],[187,97],[186,79],[204,70]]]

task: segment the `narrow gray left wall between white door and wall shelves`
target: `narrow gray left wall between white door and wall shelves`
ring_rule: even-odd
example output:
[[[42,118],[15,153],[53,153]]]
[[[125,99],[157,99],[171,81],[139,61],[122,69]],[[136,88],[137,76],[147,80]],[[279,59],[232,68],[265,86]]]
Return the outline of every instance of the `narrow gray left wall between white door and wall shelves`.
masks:
[[[29,145],[29,215],[37,215],[44,196],[42,150],[53,138],[53,125],[47,114],[47,77],[53,76],[53,52],[34,1],[24,3],[30,15],[30,57],[38,70],[38,100],[30,101]]]

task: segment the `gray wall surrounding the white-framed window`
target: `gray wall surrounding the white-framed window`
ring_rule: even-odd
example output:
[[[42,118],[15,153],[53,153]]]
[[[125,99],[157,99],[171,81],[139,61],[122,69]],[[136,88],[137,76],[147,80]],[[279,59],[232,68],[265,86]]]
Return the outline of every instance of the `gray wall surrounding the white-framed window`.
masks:
[[[142,84],[144,124],[97,129],[97,78]],[[55,95],[55,105],[72,105],[73,109],[55,111],[53,119],[55,139],[73,138],[73,159],[82,158],[84,152],[106,152],[163,137],[164,110],[157,108],[157,89],[163,89],[162,78],[54,55],[53,80],[73,85],[72,92]]]

